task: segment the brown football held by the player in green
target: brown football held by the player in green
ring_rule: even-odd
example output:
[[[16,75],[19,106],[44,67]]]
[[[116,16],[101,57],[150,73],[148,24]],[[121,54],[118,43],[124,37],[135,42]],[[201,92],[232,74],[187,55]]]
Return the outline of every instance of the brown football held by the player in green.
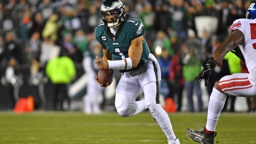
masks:
[[[113,79],[114,71],[112,69],[99,69],[97,79],[100,84],[105,86]]]

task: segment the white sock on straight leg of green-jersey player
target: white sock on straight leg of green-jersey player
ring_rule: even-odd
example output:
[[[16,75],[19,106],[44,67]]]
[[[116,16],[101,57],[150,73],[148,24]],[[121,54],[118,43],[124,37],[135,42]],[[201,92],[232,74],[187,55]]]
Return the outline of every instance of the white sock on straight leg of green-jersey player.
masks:
[[[155,104],[149,107],[152,116],[156,119],[156,122],[161,127],[162,131],[166,135],[167,139],[175,139],[176,136],[173,132],[173,126],[171,124],[168,114],[162,109],[160,104]]]

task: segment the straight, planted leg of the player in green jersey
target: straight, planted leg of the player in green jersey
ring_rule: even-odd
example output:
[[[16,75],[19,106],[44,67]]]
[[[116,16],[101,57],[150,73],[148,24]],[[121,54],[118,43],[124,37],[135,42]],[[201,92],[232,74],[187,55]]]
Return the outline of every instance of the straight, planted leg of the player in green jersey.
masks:
[[[163,110],[159,102],[159,81],[157,79],[157,70],[153,64],[147,65],[147,71],[139,77],[140,85],[145,95],[146,104],[168,139],[168,143],[179,144],[168,114]]]

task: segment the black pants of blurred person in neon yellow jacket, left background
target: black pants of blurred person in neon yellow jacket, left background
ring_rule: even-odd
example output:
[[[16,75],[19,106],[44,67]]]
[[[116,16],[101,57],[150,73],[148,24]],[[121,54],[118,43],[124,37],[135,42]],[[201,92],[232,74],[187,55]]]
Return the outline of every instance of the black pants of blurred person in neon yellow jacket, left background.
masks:
[[[53,109],[58,110],[57,105],[60,104],[60,110],[63,111],[63,101],[67,99],[68,105],[70,100],[68,97],[67,84],[55,84],[54,85],[54,98],[53,98]]]

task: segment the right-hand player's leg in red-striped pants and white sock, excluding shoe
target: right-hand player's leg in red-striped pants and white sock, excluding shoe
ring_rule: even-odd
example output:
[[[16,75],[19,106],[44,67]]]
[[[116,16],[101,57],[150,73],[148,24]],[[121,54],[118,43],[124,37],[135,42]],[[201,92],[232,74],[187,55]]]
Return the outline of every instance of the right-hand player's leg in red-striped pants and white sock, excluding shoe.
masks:
[[[215,83],[208,105],[207,130],[215,131],[226,95],[255,96],[256,89],[251,85],[248,76],[247,73],[233,74],[225,76]]]

